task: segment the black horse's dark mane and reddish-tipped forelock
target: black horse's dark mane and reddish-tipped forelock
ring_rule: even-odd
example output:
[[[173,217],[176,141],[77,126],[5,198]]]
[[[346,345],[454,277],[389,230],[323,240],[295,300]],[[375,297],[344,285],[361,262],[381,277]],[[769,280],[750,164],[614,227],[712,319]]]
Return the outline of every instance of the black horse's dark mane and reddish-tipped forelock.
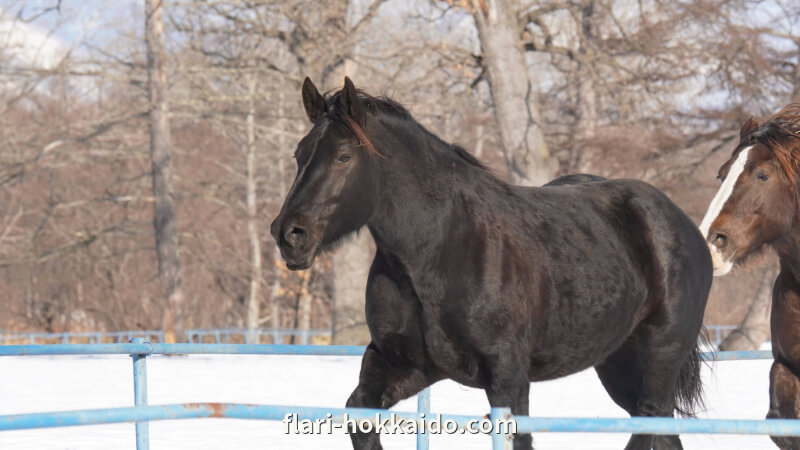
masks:
[[[436,136],[428,131],[421,123],[414,119],[411,113],[409,113],[403,105],[397,101],[385,96],[372,96],[362,90],[357,90],[356,92],[358,93],[358,98],[361,100],[361,105],[364,107],[367,114],[378,118],[388,117],[399,121],[404,125],[407,125],[410,130],[420,133],[429,140],[433,141],[436,144],[433,146],[434,148],[452,151],[457,157],[468,164],[483,169],[487,172],[491,172],[491,170],[486,167],[485,164],[478,160],[478,158],[472,156],[472,154],[469,153],[464,147],[445,142],[439,136]],[[333,94],[326,93],[325,100],[328,103],[328,109],[330,111],[329,117],[346,124],[349,128],[353,128],[353,125],[349,123],[352,121],[345,117],[346,113],[344,112],[344,108],[336,107],[337,105],[341,105],[341,93],[342,91],[338,91]],[[355,126],[358,127],[358,124]],[[363,130],[355,129],[352,131],[359,136],[359,138],[361,138],[361,136],[365,136]]]

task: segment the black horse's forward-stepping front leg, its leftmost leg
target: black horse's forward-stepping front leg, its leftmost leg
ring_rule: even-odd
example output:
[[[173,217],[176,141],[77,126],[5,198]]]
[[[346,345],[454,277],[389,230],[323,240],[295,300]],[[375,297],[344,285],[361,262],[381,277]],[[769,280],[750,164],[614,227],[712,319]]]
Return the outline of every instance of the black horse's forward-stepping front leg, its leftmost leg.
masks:
[[[392,364],[374,344],[367,347],[361,360],[361,375],[358,386],[347,400],[348,408],[391,408],[398,401],[411,397],[438,381],[419,368]],[[378,433],[350,434],[356,450],[382,448]]]

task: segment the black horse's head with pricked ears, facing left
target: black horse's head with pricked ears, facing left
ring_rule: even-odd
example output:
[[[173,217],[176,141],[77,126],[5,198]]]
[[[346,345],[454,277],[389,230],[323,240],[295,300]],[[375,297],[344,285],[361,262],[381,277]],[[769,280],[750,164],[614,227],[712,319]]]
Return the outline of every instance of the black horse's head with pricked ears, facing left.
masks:
[[[349,78],[323,97],[308,78],[303,106],[313,124],[295,152],[297,176],[270,231],[286,266],[311,267],[314,258],[369,220],[381,191],[377,152],[365,133],[365,97]]]

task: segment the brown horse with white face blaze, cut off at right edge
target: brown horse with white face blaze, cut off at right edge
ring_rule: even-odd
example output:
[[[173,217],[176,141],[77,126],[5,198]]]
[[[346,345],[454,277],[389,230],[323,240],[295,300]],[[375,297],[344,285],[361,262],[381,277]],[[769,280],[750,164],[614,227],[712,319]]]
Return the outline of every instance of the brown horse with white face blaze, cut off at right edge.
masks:
[[[731,158],[719,169],[719,192],[701,231],[714,274],[763,249],[780,256],[772,291],[772,353],[768,418],[800,417],[800,103],[762,124],[752,117]],[[800,450],[800,438],[773,437],[782,449]]]

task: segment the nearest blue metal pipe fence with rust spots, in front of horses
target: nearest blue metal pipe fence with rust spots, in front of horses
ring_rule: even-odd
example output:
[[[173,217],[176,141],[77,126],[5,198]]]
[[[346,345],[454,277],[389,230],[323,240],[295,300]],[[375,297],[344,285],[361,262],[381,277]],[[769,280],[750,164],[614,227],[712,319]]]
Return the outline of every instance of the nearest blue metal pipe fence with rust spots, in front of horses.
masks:
[[[239,418],[283,421],[287,414],[296,414],[297,420],[337,418],[348,414],[352,420],[374,421],[376,414],[392,413],[398,419],[413,421],[422,432],[417,434],[417,448],[428,448],[430,433],[424,426],[434,420],[430,413],[430,391],[418,396],[417,412],[395,412],[360,408],[316,408],[284,405],[242,405],[222,403],[148,405],[146,357],[154,354],[259,354],[259,355],[351,355],[363,354],[360,346],[301,346],[253,344],[158,344],[135,339],[130,344],[66,344],[66,345],[9,345],[0,346],[0,356],[12,355],[76,355],[76,354],[130,354],[133,357],[134,407],[64,411],[0,416],[0,431],[29,428],[62,427],[101,423],[135,422],[136,442],[139,450],[149,448],[148,421],[191,418]],[[704,353],[706,360],[731,361],[745,359],[771,359],[768,351]],[[384,416],[385,417],[385,416]],[[481,421],[484,417],[463,415],[437,415],[436,420],[451,421],[460,428]],[[492,408],[490,419],[513,419],[518,432],[599,432],[599,433],[718,433],[766,434],[773,436],[800,436],[800,420],[723,420],[723,419],[672,419],[634,417],[610,418],[541,418],[511,416],[507,408]],[[506,430],[506,433],[509,430]],[[495,427],[492,433],[495,449],[507,448],[510,435]]]

